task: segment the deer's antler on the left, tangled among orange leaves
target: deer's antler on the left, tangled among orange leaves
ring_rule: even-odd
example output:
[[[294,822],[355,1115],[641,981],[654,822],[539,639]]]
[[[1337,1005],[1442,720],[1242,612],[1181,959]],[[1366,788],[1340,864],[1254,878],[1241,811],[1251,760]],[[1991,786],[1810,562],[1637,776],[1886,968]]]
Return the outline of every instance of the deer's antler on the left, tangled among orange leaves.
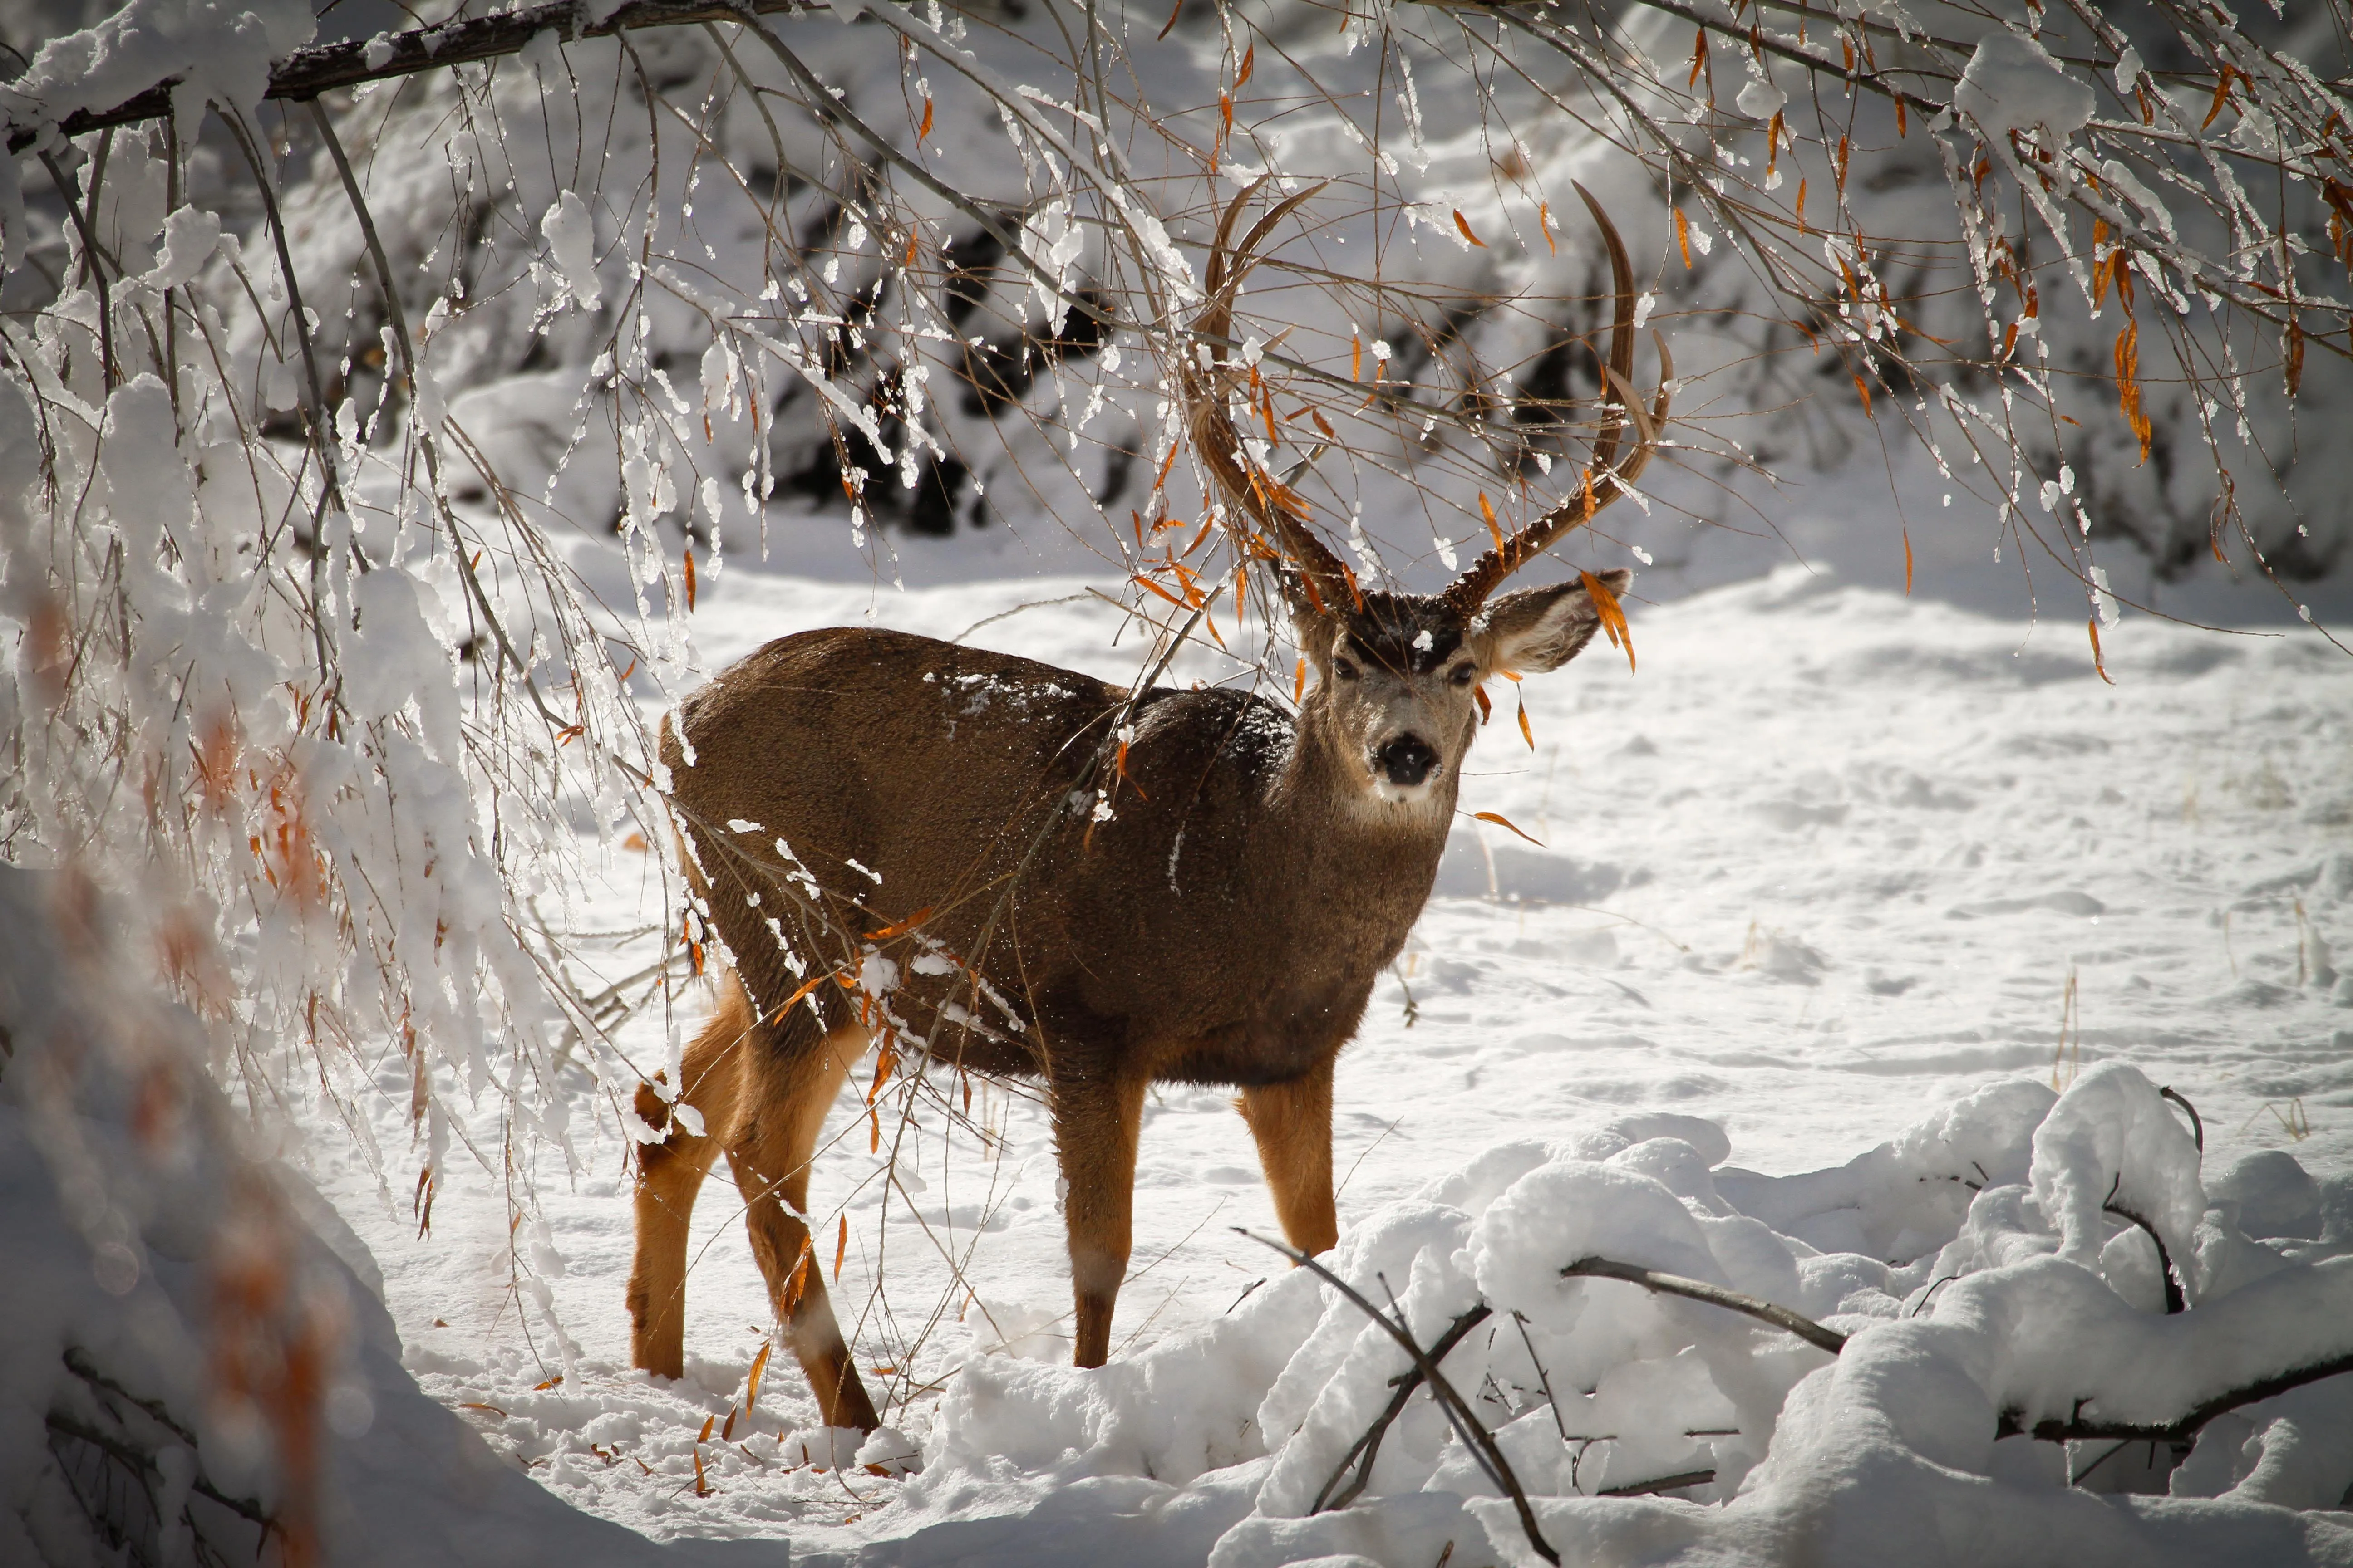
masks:
[[[1233,296],[1242,277],[1257,266],[1257,247],[1301,202],[1322,190],[1311,186],[1278,202],[1266,216],[1252,223],[1240,244],[1233,244],[1233,226],[1242,209],[1259,193],[1268,176],[1249,183],[1217,223],[1217,242],[1209,247],[1205,270],[1207,303],[1193,317],[1193,339],[1176,360],[1176,383],[1186,400],[1186,423],[1193,433],[1193,451],[1224,496],[1228,508],[1226,527],[1235,550],[1247,559],[1254,552],[1249,529],[1235,522],[1233,512],[1249,517],[1278,545],[1278,578],[1294,611],[1322,614],[1327,604],[1355,597],[1355,574],[1341,564],[1332,550],[1306,527],[1306,503],[1282,487],[1275,475],[1259,470],[1249,461],[1242,435],[1226,414],[1226,390],[1233,378],[1231,367],[1205,367],[1198,346],[1209,339],[1228,339],[1233,327]],[[1228,362],[1231,364],[1231,362]],[[1257,548],[1264,552],[1264,548]],[[1285,569],[1287,567],[1287,569]]]

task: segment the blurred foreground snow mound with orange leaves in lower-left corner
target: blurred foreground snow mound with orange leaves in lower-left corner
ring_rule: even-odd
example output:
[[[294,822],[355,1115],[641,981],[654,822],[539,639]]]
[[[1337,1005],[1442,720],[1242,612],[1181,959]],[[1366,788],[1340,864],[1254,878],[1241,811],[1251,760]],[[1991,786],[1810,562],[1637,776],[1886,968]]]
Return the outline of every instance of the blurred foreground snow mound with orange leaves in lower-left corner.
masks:
[[[134,978],[151,933],[0,865],[0,1561],[649,1559],[419,1392],[367,1248]]]

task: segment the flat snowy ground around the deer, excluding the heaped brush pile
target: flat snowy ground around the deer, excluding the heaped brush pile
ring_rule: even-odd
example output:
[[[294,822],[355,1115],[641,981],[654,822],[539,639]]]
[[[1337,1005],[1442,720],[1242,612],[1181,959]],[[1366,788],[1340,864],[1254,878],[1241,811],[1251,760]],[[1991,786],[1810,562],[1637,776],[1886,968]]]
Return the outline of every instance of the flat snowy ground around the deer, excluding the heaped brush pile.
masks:
[[[704,599],[694,635],[715,670],[769,637],[861,618],[944,637],[972,628],[972,642],[1122,682],[1139,661],[1139,637],[1122,632],[1108,597],[1052,578],[894,592],[739,564]],[[1875,1178],[1807,1190],[1734,1171],[1842,1166],[1974,1091],[2064,1088],[2101,1063],[2129,1063],[2202,1114],[2209,1197],[2231,1190],[2221,1173],[2240,1157],[2287,1150],[2322,1178],[2334,1239],[2346,1194],[2327,1178],[2353,1173],[2353,964],[2348,978],[2332,973],[2332,952],[2353,945],[2353,684],[2341,654],[2311,632],[2219,635],[2134,616],[2104,639],[2113,677],[2104,684],[2075,614],[2040,625],[1984,618],[1798,567],[1638,607],[1633,646],[1638,670],[1595,644],[1522,686],[1534,750],[1508,693],[1480,736],[1464,809],[1511,818],[1541,849],[1501,827],[1459,825],[1407,959],[1341,1058],[1344,1229],[1381,1215],[1381,1234],[1395,1237],[1402,1199],[1515,1140],[1598,1157],[1664,1133],[1718,1164],[1697,1187],[1671,1180],[1694,1208],[1762,1215],[1802,1244],[1784,1255],[1871,1251],[1882,1265],[1913,1265],[1918,1281],[1904,1274],[1887,1288],[1925,1288],[1967,1194],[1932,1206],[1899,1237],[1889,1204],[1913,1199],[1897,1187],[1927,1180],[1911,1166],[1882,1157],[1866,1166]],[[1179,677],[1226,672],[1207,656],[1186,658]],[[612,846],[609,865],[609,896],[581,914],[584,931],[659,929],[675,914],[659,907],[645,853]],[[652,954],[647,938],[607,950],[612,978]],[[659,1065],[701,1006],[685,990],[666,1023],[656,1001],[626,1025],[624,1041],[635,1060]],[[1115,1359],[1082,1375],[1047,1368],[1068,1356],[1068,1265],[1040,1107],[986,1088],[976,1112],[1000,1128],[993,1152],[946,1145],[936,1124],[925,1128],[911,1145],[922,1213],[894,1199],[885,1215],[880,1157],[868,1154],[864,1105],[849,1103],[864,1088],[854,1074],[828,1121],[812,1213],[828,1239],[835,1213],[847,1213],[835,1302],[854,1324],[878,1401],[889,1401],[885,1418],[925,1448],[918,1481],[835,1467],[784,1356],[758,1403],[741,1408],[769,1314],[725,1173],[696,1211],[687,1378],[661,1385],[628,1371],[626,1140],[586,1077],[574,1093],[576,1168],[518,1150],[536,1161],[546,1222],[544,1246],[525,1251],[536,1253],[548,1307],[576,1352],[551,1342],[536,1305],[518,1312],[511,1208],[492,1171],[452,1171],[431,1234],[419,1237],[398,1171],[379,1185],[336,1154],[348,1145],[329,1128],[311,1140],[308,1159],[381,1265],[407,1366],[496,1450],[584,1509],[656,1540],[784,1537],[795,1561],[1104,1561],[1113,1540],[1132,1561],[1202,1561],[1249,1514],[1266,1460],[1231,1462],[1264,1439],[1212,1434],[1207,1446],[1172,1450],[1134,1439],[1139,1410],[1158,1406],[1155,1420],[1179,1427],[1226,1408],[1247,1420],[1318,1316],[1313,1291],[1301,1295],[1308,1281],[1233,1229],[1278,1234],[1228,1095],[1165,1088],[1151,1098]],[[2047,1098],[2028,1095],[2035,1114]],[[405,1103],[395,1058],[381,1107],[388,1150],[402,1147]],[[1729,1159],[1706,1128],[1645,1121],[1657,1112],[1706,1119]],[[2007,1135],[2017,1171],[1993,1171],[1988,1185],[2026,1178],[2024,1133]],[[1515,1159],[1527,1164],[1506,1157],[1504,1166]],[[1515,1168],[1489,1180],[1508,1182]],[[2261,1182],[2249,1182],[2238,1190],[2259,1206]],[[1445,1201],[1478,1218],[1501,1187],[1464,1197],[1475,1187],[1457,1180]],[[2306,1232],[2320,1227],[2311,1213],[2304,1220]],[[2245,1227],[2259,1232],[2254,1218]],[[1344,1258],[1379,1255],[1362,1248],[1377,1244],[1360,1237],[1344,1244]],[[1386,1265],[1400,1293],[1412,1255],[1405,1246]],[[875,1286],[878,1258],[887,1288]],[[1821,1281],[1807,1279],[1814,1295],[1805,1300],[1814,1300]],[[1953,1298],[1948,1288],[1941,1300]],[[1857,1307],[1833,1291],[1812,1312]],[[1252,1371],[1252,1354],[1266,1366]],[[962,1371],[974,1356],[984,1359]],[[1045,1382],[1021,1382],[1021,1356],[1035,1359]],[[1774,1387],[1824,1361],[1786,1347],[1781,1359]],[[1016,1406],[1019,1420],[1007,1413]],[[1106,1429],[1127,1436],[1113,1441]],[[1435,1453],[1435,1436],[1426,1446]],[[1751,1432],[1715,1448],[1729,1483],[1765,1443]],[[1652,1458],[1628,1448],[1574,1486],[1664,1474],[1642,1472]],[[2217,1462],[2205,1448],[2198,1458]],[[2235,1479],[2228,1460],[2221,1469],[2209,1490]],[[1419,1486],[1409,1479],[1402,1490]],[[1489,1514],[1489,1535],[1445,1500],[1447,1483],[1431,1486],[1421,1505],[1391,1497],[1322,1533],[1252,1521],[1257,1535],[1240,1528],[1219,1561],[1344,1549],[1435,1561],[1445,1540],[1457,1540],[1457,1563],[1525,1552],[1511,1544],[1508,1512]],[[1682,1495],[1708,1502],[1720,1493]],[[1689,1514],[1668,1502],[1609,1507],[1626,1519],[1649,1509],[1640,1519],[1652,1523]],[[1560,1530],[1586,1540],[1577,1533],[1591,1528],[1588,1544],[1607,1547],[1612,1561],[1635,1552],[1624,1535],[1635,1526],[1577,1519],[1586,1523],[1548,1526],[1555,1540]],[[2226,1523],[2207,1516],[2198,1523],[2160,1507],[2132,1519],[2151,1530],[2174,1519],[2186,1530],[2148,1535],[2172,1542],[2151,1547],[2148,1561],[2195,1556],[2193,1540],[2226,1540],[2200,1535]],[[2097,1530],[2054,1530],[2052,1542],[2075,1540],[2092,1559],[2115,1547]],[[2247,1530],[2231,1540],[2249,1552],[2259,1537],[2287,1559],[2341,1549],[2294,1528],[2280,1535],[2278,1519]],[[1642,1552],[1687,1544],[1668,1535]],[[1955,1561],[1967,1561],[1960,1552]]]

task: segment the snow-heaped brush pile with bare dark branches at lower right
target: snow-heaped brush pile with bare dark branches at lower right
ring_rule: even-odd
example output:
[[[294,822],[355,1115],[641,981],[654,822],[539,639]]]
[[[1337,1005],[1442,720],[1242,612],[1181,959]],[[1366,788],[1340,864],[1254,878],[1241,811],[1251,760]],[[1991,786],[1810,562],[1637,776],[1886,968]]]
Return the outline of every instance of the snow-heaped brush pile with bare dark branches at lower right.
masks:
[[[1875,1563],[1892,1540],[1955,1568],[2353,1552],[2325,1512],[2353,1486],[2344,1178],[2266,1152],[2209,1197],[2191,1124],[2122,1063],[2066,1093],[1995,1084],[1831,1171],[1753,1175],[1725,1154],[1689,1117],[1504,1145],[1327,1260],[1424,1347],[1473,1324],[1440,1366],[1560,1561]],[[1593,1255],[1845,1345],[1562,1276]],[[1454,1561],[1539,1561],[1440,1406],[1412,1382],[1395,1406],[1409,1368],[1301,1269],[1129,1363],[972,1361],[908,1502],[988,1467],[1136,1474],[1254,1495],[1219,1568],[1341,1552],[1405,1568],[1447,1540]]]

